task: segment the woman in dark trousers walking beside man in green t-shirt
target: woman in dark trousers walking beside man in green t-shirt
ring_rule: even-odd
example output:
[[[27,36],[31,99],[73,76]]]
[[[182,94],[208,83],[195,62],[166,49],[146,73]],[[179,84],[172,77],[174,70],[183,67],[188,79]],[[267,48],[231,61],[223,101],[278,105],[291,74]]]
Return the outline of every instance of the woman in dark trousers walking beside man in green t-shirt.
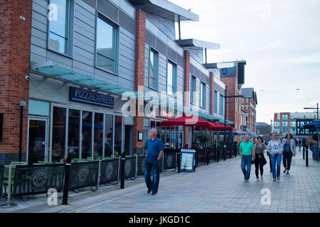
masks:
[[[262,143],[262,137],[258,136],[257,143],[255,144],[255,176],[257,177],[257,182],[260,182],[260,179],[263,180],[263,166],[267,163],[264,155],[265,149],[267,149],[267,146],[265,143]]]

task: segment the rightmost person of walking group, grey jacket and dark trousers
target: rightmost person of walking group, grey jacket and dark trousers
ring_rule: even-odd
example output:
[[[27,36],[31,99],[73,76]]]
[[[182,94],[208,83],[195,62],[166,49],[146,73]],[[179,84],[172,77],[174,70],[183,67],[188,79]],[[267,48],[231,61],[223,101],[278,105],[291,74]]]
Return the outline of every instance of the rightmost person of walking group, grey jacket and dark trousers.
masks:
[[[285,139],[282,142],[283,147],[283,166],[284,166],[284,172],[287,171],[287,175],[289,175],[292,155],[296,155],[296,146],[294,143],[294,138],[291,133],[287,133],[285,136]]]

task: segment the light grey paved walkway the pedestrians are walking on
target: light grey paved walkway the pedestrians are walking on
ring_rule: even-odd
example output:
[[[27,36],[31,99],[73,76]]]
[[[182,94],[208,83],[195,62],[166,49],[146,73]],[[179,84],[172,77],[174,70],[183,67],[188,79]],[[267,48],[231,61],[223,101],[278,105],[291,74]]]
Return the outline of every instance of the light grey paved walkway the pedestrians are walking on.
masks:
[[[292,158],[290,174],[281,172],[281,179],[277,182],[272,181],[269,163],[265,165],[262,182],[256,181],[253,165],[251,170],[249,182],[244,182],[240,157],[237,157],[203,165],[194,173],[178,174],[169,170],[161,175],[159,192],[154,196],[146,193],[144,179],[140,177],[134,182],[127,182],[125,189],[117,186],[117,189],[105,188],[102,192],[71,194],[73,199],[69,200],[68,206],[48,206],[44,197],[36,205],[33,201],[24,204],[23,201],[17,201],[19,206],[16,208],[0,209],[0,212],[320,213],[320,162],[309,160],[309,167],[306,167],[302,153],[297,153]],[[268,194],[270,205],[262,205],[262,196],[266,198]],[[27,205],[32,202],[33,205]]]

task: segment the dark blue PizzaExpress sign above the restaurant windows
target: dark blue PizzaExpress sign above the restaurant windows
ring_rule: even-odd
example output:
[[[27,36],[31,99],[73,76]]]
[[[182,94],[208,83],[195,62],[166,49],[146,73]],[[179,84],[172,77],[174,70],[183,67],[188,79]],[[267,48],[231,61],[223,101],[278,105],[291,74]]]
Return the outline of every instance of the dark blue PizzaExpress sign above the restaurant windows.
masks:
[[[70,87],[70,101],[114,108],[114,97]]]

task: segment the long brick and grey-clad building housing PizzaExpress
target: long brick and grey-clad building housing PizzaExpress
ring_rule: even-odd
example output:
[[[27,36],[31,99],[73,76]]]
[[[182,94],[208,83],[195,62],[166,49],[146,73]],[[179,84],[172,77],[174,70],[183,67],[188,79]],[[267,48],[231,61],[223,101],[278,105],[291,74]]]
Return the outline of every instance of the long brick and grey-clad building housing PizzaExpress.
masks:
[[[187,109],[223,122],[226,84],[240,94],[245,63],[234,63],[234,82],[206,67],[203,49],[219,45],[176,40],[175,23],[198,15],[169,1],[18,0],[0,11],[0,164],[20,150],[29,164],[143,153],[150,128],[166,148],[182,148],[197,132],[161,121]],[[227,116],[240,126],[239,106]]]

